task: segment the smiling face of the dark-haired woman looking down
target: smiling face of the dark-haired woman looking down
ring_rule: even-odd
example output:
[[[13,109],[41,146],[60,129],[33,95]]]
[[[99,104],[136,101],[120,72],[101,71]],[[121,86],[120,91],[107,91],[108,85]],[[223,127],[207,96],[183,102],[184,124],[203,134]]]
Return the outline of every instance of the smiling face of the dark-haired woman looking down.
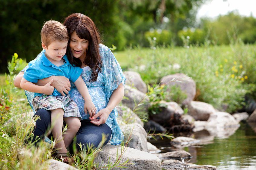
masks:
[[[88,40],[80,39],[76,35],[76,32],[72,33],[72,35],[70,37],[69,47],[70,47],[72,54],[75,58],[81,57],[86,52],[88,45],[89,45]]]

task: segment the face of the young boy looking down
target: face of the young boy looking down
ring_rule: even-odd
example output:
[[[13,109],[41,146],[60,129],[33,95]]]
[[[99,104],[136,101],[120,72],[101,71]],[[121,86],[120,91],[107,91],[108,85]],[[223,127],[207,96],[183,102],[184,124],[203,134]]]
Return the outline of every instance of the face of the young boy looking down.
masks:
[[[45,55],[50,61],[60,61],[61,58],[66,54],[68,41],[53,41],[48,47],[43,44],[42,47],[45,49]]]

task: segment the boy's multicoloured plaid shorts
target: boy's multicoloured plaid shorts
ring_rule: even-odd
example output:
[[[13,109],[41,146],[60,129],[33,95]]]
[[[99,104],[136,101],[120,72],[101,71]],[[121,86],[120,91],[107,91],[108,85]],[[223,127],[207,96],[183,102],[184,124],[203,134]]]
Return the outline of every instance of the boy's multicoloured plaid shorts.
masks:
[[[78,110],[77,104],[67,96],[47,96],[43,94],[41,97],[34,97],[33,107],[37,111],[38,109],[54,110],[62,108],[64,110],[63,117],[78,117],[82,119]]]

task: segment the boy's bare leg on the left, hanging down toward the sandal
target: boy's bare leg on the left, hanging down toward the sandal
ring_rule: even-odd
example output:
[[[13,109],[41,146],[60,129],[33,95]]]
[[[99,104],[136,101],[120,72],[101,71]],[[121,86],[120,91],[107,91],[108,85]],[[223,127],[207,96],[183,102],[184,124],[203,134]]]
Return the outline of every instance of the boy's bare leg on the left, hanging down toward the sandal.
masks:
[[[62,138],[62,126],[63,126],[63,109],[54,109],[51,110],[51,125],[52,125],[52,134],[55,141],[54,148],[58,150],[59,153],[67,153],[68,150],[65,147],[63,138]]]

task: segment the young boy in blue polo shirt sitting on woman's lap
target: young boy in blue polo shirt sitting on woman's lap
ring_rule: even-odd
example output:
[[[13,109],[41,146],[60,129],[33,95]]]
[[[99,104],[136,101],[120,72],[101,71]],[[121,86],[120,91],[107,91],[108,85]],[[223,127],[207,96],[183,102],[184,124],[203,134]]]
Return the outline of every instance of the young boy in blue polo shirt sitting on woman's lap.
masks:
[[[76,88],[85,100],[85,111],[95,114],[96,107],[91,101],[88,89],[80,74],[82,69],[69,63],[66,53],[69,35],[65,26],[57,21],[47,21],[41,30],[43,51],[39,57],[30,63],[21,80],[21,88],[34,92],[33,106],[35,110],[40,108],[51,110],[52,134],[55,142],[55,150],[58,150],[57,158],[64,158],[69,162],[66,147],[71,144],[78,129],[81,126],[78,107],[69,95],[62,96],[51,83],[35,85],[38,80],[50,76],[65,76],[74,82]],[[63,120],[68,125],[62,138]]]

